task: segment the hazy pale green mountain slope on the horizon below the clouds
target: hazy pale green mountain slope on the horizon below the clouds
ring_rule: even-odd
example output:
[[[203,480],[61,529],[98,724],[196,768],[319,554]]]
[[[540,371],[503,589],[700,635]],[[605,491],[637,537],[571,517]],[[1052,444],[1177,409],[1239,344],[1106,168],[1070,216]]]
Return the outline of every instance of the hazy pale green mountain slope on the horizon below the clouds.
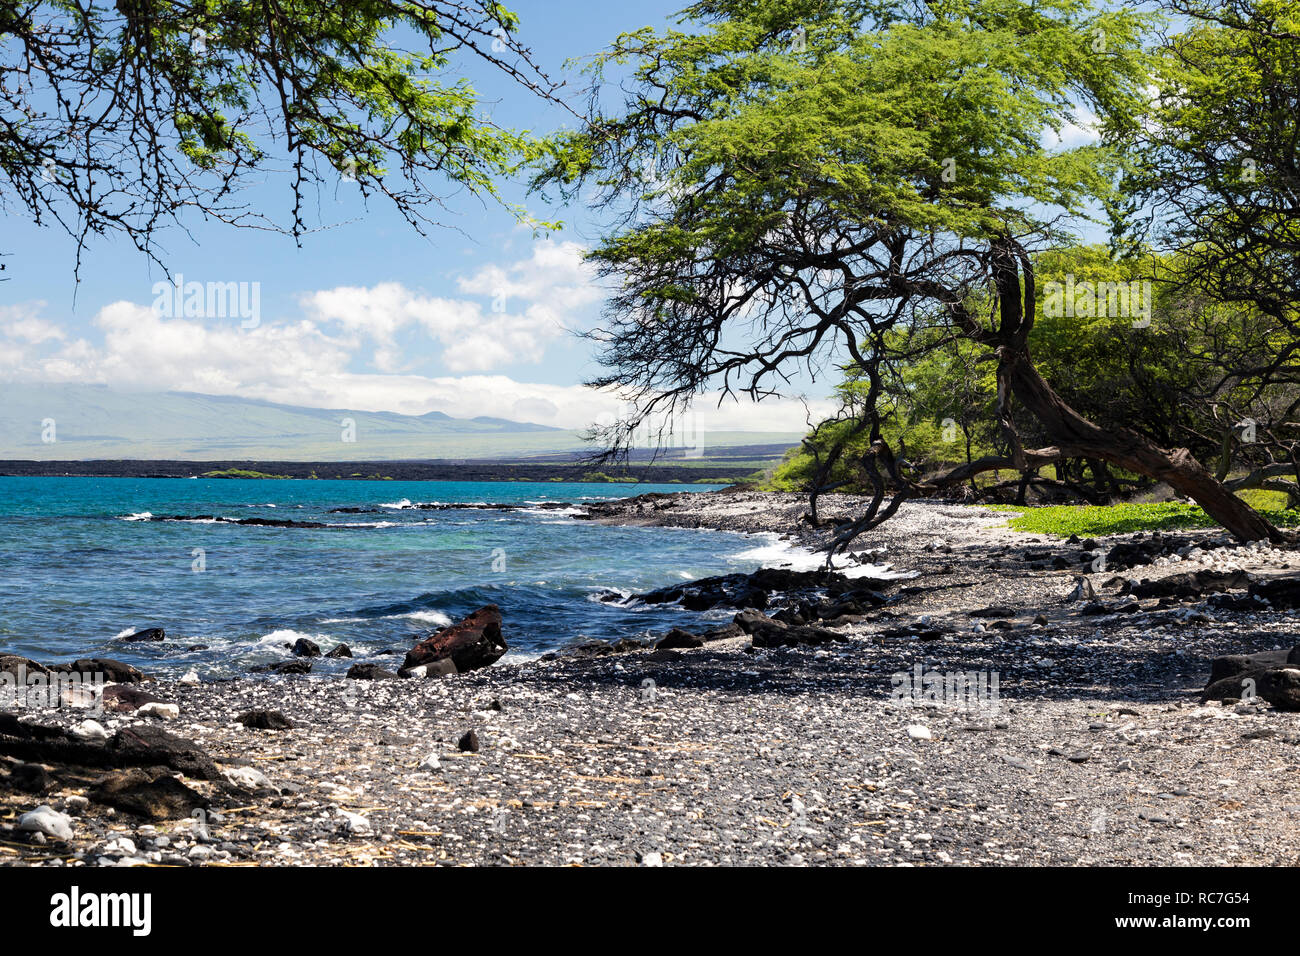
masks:
[[[744,432],[706,438],[716,447],[723,441],[794,444],[798,436]],[[486,416],[307,408],[103,385],[0,384],[4,459],[495,459],[578,450],[589,450],[580,432]]]

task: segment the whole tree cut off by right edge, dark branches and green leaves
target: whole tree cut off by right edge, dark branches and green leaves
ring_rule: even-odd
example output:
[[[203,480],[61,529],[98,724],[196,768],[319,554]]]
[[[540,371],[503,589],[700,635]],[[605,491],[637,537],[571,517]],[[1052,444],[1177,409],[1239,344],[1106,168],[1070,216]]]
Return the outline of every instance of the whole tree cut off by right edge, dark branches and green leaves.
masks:
[[[1300,498],[1300,5],[1166,0],[1186,22],[1161,49],[1160,95],[1130,148],[1135,242],[1176,251],[1165,278],[1239,317],[1206,356],[1248,440],[1230,486]],[[1236,416],[1243,407],[1249,415]],[[1235,412],[1232,410],[1236,410]],[[1226,450],[1232,450],[1231,441]],[[1226,458],[1226,455],[1225,455]]]

